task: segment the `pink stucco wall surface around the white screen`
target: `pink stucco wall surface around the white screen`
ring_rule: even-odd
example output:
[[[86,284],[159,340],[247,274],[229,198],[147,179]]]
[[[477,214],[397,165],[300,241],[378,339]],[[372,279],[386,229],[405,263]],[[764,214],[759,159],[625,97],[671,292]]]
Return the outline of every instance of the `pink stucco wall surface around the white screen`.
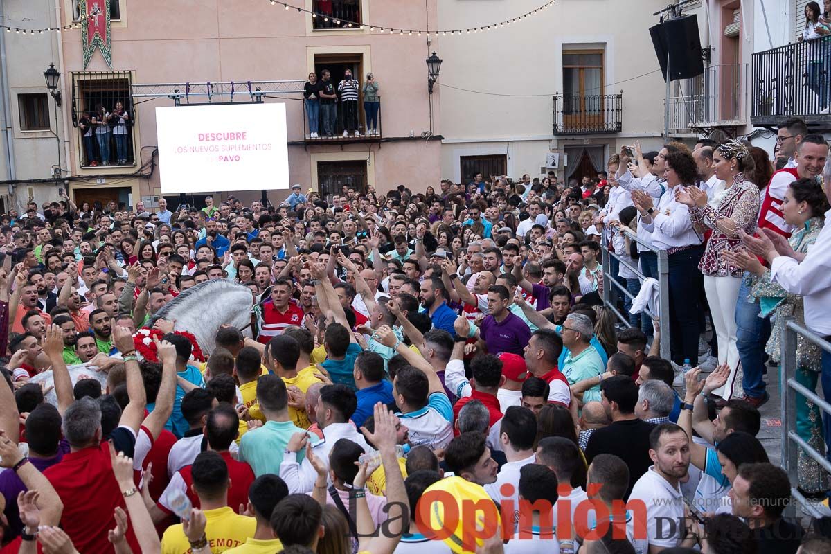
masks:
[[[302,0],[288,0],[297,6]],[[381,84],[381,116],[385,137],[416,137],[430,129],[427,68],[429,55],[425,37],[399,37],[389,34],[307,37],[306,18],[297,10],[271,6],[267,0],[178,0],[127,2],[127,27],[112,29],[113,70],[134,71],[134,83],[183,81],[305,80],[307,47],[369,47],[372,72]],[[436,25],[436,0],[427,0],[430,27]],[[375,25],[425,27],[425,3],[406,0],[372,1],[369,20]],[[365,18],[366,21],[366,18]],[[61,33],[63,71],[67,82],[71,71],[85,71],[81,52],[81,32]],[[101,54],[86,71],[108,71]],[[361,76],[361,83],[364,77]],[[66,91],[71,96],[71,91]],[[288,96],[290,99],[301,95]],[[136,99],[141,101],[144,99]],[[288,140],[302,140],[302,102],[286,100]],[[137,108],[137,125],[142,146],[155,145],[155,106],[170,105],[159,99]],[[433,132],[440,134],[438,91],[434,95]],[[73,157],[77,135],[71,136]],[[345,150],[375,152],[376,186],[380,191],[407,184],[423,189],[436,186],[440,179],[437,140],[403,140],[347,145]],[[292,182],[309,184],[311,152],[341,152],[339,146],[289,146],[289,172]],[[95,170],[82,173],[94,174]],[[158,173],[150,182],[141,181],[140,194],[158,190]],[[316,184],[312,184],[316,187]],[[252,197],[257,197],[253,192]],[[278,195],[279,196],[279,195]]]

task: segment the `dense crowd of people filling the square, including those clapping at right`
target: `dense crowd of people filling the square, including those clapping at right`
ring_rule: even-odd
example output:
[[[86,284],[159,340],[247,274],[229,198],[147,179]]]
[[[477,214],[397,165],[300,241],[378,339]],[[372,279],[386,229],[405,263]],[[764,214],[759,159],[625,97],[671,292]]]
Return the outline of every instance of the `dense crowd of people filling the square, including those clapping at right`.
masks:
[[[2,215],[0,552],[829,552],[783,517],[828,473],[757,438],[784,318],[831,335],[828,151],[791,120],[773,161],[636,143],[582,184]],[[220,286],[251,322],[200,345]]]

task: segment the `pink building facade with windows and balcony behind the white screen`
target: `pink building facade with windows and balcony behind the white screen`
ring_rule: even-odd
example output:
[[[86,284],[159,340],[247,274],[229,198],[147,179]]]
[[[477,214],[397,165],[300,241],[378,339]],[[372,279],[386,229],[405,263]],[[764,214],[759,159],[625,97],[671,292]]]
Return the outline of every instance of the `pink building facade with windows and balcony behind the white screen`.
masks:
[[[87,12],[96,2],[87,0]],[[171,5],[157,0],[111,2],[111,67],[100,51],[85,67],[81,31],[61,33],[61,74],[66,77],[65,104],[69,105],[63,115],[71,125],[70,189],[79,205],[109,200],[135,205],[138,199],[148,208],[155,205],[159,174],[164,171],[155,152],[155,106],[174,104],[168,92],[204,91],[207,83],[212,83],[215,96],[209,99],[194,92],[181,102],[228,102],[232,99],[219,91],[227,92],[234,81],[237,94],[233,101],[252,101],[248,81],[297,81],[290,87],[297,91],[310,72],[320,76],[323,69],[331,71],[336,85],[347,69],[361,85],[367,74],[375,76],[381,100],[379,133],[366,136],[366,118],[359,106],[360,137],[341,135],[339,110],[335,138],[312,139],[302,94],[268,95],[264,101],[284,102],[287,107],[292,183],[302,184],[304,190],[331,194],[340,192],[345,184],[359,188],[371,185],[382,192],[397,184],[423,189],[440,180],[435,164],[440,152],[435,138],[440,136],[440,110],[438,96],[428,94],[426,38],[382,34],[377,29],[371,32],[368,27],[394,22],[416,29],[435,28],[435,0],[418,6],[403,0],[287,0],[290,9],[268,0],[197,2],[188,9],[177,7],[177,2]],[[58,4],[65,22],[78,22],[85,16],[79,13],[84,2],[58,0]],[[312,17],[297,7],[331,13],[331,18],[321,21],[322,17]],[[347,27],[347,21],[366,25]],[[158,94],[133,94],[145,91]],[[116,102],[131,118],[123,155],[115,152],[115,138],[108,140],[106,152],[97,137],[85,141],[81,130],[83,118],[91,120],[101,107],[112,111]],[[258,199],[268,184],[252,184],[251,188],[250,193],[237,197]],[[273,191],[268,199],[278,203],[288,192]],[[168,196],[171,203],[178,203]],[[200,203],[201,198],[185,201]]]

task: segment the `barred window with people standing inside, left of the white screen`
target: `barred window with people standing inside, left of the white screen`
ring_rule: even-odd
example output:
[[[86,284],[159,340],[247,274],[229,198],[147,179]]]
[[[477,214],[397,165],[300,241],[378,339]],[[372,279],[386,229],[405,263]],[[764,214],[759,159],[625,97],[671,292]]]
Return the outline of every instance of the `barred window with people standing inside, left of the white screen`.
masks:
[[[72,74],[72,120],[81,167],[135,165],[135,111],[129,71]]]

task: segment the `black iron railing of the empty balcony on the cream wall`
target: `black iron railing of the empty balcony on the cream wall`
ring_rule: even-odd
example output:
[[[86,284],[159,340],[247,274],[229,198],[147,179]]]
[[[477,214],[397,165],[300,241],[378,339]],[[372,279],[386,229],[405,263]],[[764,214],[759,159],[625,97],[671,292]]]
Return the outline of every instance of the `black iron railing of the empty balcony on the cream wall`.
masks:
[[[621,132],[623,95],[553,96],[553,135],[606,135]]]

